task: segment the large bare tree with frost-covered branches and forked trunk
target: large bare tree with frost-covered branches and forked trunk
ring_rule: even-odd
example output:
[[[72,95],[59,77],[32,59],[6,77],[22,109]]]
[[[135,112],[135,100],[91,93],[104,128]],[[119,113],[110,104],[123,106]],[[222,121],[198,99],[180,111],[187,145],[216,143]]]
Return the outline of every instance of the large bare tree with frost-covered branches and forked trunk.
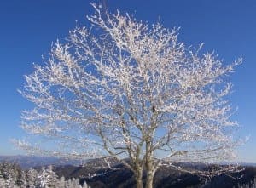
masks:
[[[20,91],[35,105],[23,111],[21,127],[49,144],[18,145],[61,157],[114,157],[131,168],[137,187],[145,170],[148,188],[161,165],[234,157],[226,76],[241,60],[225,65],[186,48],[177,29],[93,7],[91,26],[55,43]],[[49,150],[53,142],[60,147]]]

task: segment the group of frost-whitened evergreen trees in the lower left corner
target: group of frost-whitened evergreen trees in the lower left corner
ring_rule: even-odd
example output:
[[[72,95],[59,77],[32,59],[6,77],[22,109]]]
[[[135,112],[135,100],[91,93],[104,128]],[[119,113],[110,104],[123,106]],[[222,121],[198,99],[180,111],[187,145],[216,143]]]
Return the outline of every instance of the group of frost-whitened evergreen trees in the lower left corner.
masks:
[[[1,188],[88,188],[84,181],[80,185],[79,179],[65,179],[58,176],[52,166],[36,170],[29,168],[22,170],[15,163],[0,163]]]

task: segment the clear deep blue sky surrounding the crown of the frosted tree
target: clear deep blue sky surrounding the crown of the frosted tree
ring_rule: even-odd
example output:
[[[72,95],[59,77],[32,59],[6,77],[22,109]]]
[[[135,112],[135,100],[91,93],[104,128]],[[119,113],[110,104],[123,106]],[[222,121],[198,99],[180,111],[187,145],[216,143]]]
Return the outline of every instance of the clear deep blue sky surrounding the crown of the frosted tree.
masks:
[[[196,47],[205,43],[204,50],[214,50],[226,63],[243,58],[230,77],[235,85],[230,100],[238,106],[232,118],[242,126],[241,137],[250,136],[239,148],[241,161],[256,162],[256,1],[107,0],[106,5],[137,20],[180,26],[181,41]],[[0,1],[0,155],[22,153],[9,139],[24,136],[20,111],[31,106],[17,92],[23,75],[32,72],[33,62],[42,62],[52,42],[86,24],[85,15],[92,12],[88,0]]]

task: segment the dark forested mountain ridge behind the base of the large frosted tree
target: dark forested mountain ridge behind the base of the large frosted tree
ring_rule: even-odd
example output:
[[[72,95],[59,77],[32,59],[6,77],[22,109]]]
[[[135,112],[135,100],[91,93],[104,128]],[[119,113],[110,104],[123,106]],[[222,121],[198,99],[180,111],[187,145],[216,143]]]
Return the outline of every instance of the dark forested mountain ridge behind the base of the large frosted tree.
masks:
[[[209,168],[205,164],[195,162],[178,163],[190,169]],[[59,176],[79,178],[88,185],[96,188],[133,188],[136,182],[133,173],[120,162],[114,163],[112,168],[106,167],[102,159],[90,160],[84,166],[55,167]],[[256,168],[245,166],[241,172],[220,174],[212,179],[206,179],[196,174],[184,173],[172,167],[160,168],[154,175],[154,188],[230,188],[239,184],[248,184],[256,177]],[[143,174],[145,184],[145,172]]]

